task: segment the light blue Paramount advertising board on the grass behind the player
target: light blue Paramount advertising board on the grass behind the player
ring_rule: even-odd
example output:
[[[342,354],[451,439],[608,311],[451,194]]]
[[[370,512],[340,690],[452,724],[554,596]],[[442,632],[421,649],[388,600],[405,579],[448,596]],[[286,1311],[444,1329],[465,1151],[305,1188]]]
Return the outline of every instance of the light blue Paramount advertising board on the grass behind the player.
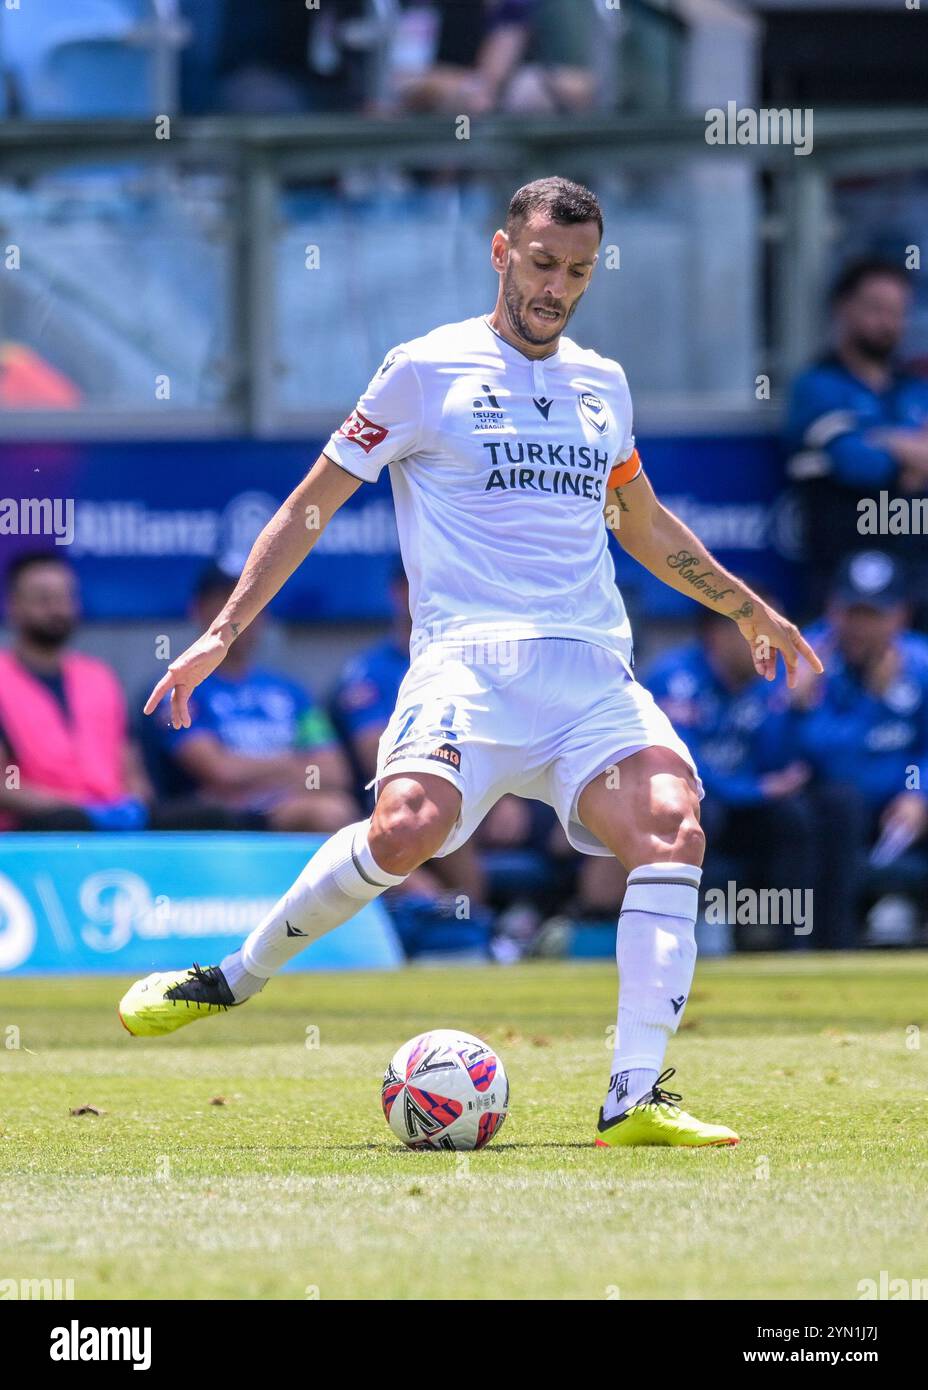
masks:
[[[235,951],[322,844],[318,835],[7,834],[0,976],[147,974]],[[379,902],[288,970],[389,970],[403,949]]]

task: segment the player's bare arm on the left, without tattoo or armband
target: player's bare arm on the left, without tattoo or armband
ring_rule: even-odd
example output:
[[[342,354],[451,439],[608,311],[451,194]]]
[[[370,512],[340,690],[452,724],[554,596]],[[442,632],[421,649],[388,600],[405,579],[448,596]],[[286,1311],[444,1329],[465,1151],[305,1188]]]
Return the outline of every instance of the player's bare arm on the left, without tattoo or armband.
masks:
[[[207,631],[171,662],[146,701],[146,714],[151,714],[171,691],[171,724],[174,728],[190,727],[189,701],[196,687],[213,674],[239,632],[283,588],[338,509],[360,485],[360,478],[320,455],[251,546],[225,607]]]

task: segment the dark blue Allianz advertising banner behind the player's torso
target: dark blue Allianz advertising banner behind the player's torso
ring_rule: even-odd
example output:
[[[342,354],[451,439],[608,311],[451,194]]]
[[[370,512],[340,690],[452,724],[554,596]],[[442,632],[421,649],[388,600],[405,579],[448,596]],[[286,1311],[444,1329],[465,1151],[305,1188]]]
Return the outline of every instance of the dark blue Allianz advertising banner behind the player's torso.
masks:
[[[179,617],[197,573],[219,559],[238,573],[254,537],[304,477],[325,441],[157,443],[3,443],[0,498],[57,499],[72,527],[74,560],[89,619]],[[661,498],[722,564],[792,596],[796,512],[772,435],[642,438]],[[51,513],[49,513],[51,514]],[[49,549],[50,535],[3,534],[0,567]],[[692,610],[618,546],[618,581],[652,617]],[[292,621],[389,616],[388,580],[399,560],[389,474],[364,484],[336,513],[307,564],[271,605]]]

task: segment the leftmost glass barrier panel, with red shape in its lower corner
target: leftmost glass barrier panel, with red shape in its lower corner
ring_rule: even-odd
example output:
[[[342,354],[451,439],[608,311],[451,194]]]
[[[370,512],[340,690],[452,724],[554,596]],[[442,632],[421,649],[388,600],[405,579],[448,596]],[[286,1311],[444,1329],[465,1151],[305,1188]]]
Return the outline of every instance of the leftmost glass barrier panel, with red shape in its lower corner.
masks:
[[[178,164],[0,181],[3,409],[224,404],[236,235],[228,179]]]

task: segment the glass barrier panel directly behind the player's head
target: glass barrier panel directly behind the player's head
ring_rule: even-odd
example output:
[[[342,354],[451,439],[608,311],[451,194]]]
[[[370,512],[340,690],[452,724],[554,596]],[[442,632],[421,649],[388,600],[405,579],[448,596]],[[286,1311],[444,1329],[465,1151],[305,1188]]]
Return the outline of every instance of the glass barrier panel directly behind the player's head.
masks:
[[[660,172],[570,164],[596,188],[600,263],[568,332],[625,367],[636,398],[754,402],[759,215],[732,160]],[[611,164],[611,161],[610,161]],[[489,263],[518,177],[371,171],[283,186],[276,207],[274,410],[345,413],[389,348],[496,300]]]

